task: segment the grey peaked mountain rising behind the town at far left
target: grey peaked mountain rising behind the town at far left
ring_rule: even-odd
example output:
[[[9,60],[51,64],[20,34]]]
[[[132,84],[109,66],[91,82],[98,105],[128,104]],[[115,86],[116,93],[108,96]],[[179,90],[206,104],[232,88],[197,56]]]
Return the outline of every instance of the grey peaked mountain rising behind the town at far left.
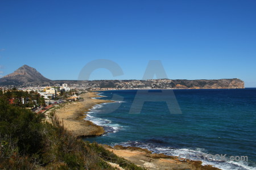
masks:
[[[3,76],[0,79],[1,85],[18,85],[23,83],[31,83],[31,82],[46,82],[51,81],[50,79],[45,78],[42,74],[40,74],[36,69],[24,65],[19,67],[14,73]]]

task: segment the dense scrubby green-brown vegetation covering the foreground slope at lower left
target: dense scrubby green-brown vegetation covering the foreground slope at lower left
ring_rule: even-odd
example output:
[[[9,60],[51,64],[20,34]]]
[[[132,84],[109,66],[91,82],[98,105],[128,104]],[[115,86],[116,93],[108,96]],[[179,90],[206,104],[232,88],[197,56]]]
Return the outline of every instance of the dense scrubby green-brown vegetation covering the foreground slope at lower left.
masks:
[[[0,169],[114,169],[106,161],[125,169],[142,169],[105,150],[73,137],[51,113],[19,108],[0,99]]]

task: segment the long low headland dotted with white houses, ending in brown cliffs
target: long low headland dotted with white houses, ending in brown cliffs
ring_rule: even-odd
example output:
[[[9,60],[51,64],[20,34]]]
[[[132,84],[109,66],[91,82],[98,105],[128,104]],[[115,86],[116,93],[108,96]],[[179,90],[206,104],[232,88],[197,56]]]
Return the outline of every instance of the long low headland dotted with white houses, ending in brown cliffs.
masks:
[[[57,86],[68,83],[76,87],[84,88],[108,88],[116,90],[129,89],[221,89],[221,88],[245,88],[245,83],[237,78],[215,80],[185,80],[185,79],[152,79],[152,80],[53,80],[49,82],[35,83],[40,86]]]

